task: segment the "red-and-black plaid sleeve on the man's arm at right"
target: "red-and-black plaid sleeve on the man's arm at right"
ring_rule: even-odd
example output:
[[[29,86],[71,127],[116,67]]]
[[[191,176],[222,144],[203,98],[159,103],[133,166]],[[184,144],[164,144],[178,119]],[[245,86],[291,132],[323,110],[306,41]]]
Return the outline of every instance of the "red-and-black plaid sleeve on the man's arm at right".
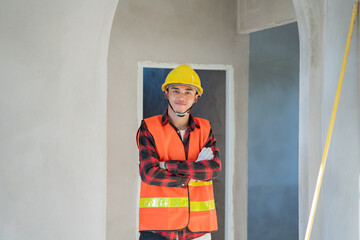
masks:
[[[205,147],[211,147],[214,153],[213,159],[199,162],[169,160],[166,162],[168,171],[174,175],[197,180],[208,181],[216,178],[220,174],[221,162],[219,149],[216,147],[216,139],[212,133],[212,129],[210,130]]]

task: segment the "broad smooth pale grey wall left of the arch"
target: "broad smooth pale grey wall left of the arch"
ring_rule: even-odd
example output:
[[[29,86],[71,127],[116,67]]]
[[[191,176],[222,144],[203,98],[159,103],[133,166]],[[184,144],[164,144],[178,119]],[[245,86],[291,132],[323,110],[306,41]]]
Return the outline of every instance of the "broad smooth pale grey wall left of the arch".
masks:
[[[116,4],[0,2],[0,239],[105,239]]]

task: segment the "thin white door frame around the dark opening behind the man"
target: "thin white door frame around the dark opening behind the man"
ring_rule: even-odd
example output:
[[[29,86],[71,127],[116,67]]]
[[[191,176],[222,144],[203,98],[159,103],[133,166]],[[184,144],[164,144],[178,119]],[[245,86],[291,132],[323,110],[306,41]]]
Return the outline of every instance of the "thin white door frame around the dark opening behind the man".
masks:
[[[232,65],[221,64],[191,64],[195,70],[222,70],[226,72],[225,94],[225,240],[234,240],[234,169],[235,169],[235,96],[234,96],[234,69]],[[180,63],[157,63],[151,61],[138,62],[137,77],[137,120],[140,126],[143,119],[143,69],[144,68],[175,68]],[[138,177],[137,206],[140,200],[140,177]],[[139,209],[136,210],[136,223],[139,223]],[[137,229],[137,228],[136,228]],[[136,231],[136,238],[139,233]]]

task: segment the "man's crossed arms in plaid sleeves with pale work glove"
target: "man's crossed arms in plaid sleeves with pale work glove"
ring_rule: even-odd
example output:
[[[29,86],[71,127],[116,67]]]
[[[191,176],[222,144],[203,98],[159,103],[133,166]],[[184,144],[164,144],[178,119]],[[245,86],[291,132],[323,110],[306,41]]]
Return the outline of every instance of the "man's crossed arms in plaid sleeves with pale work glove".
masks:
[[[216,139],[210,130],[204,149],[196,161],[169,160],[161,168],[155,141],[143,121],[139,128],[139,170],[143,182],[164,187],[186,187],[191,179],[211,180],[220,174],[221,162]],[[185,143],[186,144],[186,143]],[[185,149],[188,149],[185,147]]]

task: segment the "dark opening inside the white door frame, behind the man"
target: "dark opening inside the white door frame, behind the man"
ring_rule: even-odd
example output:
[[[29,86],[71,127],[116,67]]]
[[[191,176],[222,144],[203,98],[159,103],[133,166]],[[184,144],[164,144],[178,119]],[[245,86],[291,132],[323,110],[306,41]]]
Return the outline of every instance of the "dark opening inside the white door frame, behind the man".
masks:
[[[167,108],[161,85],[170,71],[171,69],[168,68],[143,68],[143,118],[163,114]],[[191,110],[191,114],[194,117],[210,120],[222,162],[222,173],[213,181],[219,231],[212,233],[212,239],[223,240],[225,238],[226,71],[196,69],[195,71],[201,79],[204,94]]]

